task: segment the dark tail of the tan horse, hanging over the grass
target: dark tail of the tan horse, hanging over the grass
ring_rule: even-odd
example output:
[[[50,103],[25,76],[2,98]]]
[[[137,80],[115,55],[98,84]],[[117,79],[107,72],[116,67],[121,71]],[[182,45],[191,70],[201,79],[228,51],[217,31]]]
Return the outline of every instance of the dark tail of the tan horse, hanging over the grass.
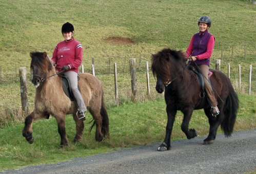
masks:
[[[102,116],[102,133],[103,136],[109,138],[109,121],[108,113],[104,103],[104,93],[102,92],[102,105],[101,105],[101,116]]]

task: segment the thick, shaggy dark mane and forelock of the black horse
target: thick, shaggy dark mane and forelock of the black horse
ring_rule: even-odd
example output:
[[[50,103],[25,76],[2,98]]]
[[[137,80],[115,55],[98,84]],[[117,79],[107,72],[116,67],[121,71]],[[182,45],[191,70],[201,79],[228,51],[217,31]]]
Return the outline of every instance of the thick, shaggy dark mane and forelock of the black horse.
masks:
[[[165,48],[156,54],[152,55],[152,73],[161,75],[162,77],[169,76],[169,62],[172,62],[174,66],[185,68],[186,59],[182,51],[171,50]]]

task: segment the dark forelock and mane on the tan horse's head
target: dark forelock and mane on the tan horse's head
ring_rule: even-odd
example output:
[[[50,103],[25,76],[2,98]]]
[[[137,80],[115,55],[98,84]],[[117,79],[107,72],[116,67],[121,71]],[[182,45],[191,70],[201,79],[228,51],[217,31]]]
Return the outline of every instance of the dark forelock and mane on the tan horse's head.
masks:
[[[35,65],[36,67],[40,67],[43,71],[47,69],[50,71],[52,69],[52,64],[50,59],[47,58],[46,52],[31,52],[30,57],[32,58],[30,68]]]

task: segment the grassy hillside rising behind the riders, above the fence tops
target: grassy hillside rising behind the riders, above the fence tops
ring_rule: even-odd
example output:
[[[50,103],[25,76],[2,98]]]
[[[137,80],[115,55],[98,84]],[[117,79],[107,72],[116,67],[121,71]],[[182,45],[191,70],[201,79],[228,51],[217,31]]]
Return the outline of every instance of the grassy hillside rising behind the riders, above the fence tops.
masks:
[[[256,7],[250,1],[1,1],[1,69],[29,67],[29,52],[46,51],[51,56],[63,40],[61,26],[66,21],[75,27],[75,37],[84,48],[84,64],[92,57],[95,64],[108,58],[123,63],[124,57],[149,60],[164,47],[185,51],[196,21],[202,15],[212,18],[211,33],[216,37],[213,58],[224,56],[233,47],[234,56],[247,60],[255,53]],[[111,44],[109,37],[127,37],[133,44]],[[255,55],[255,54],[254,54]]]

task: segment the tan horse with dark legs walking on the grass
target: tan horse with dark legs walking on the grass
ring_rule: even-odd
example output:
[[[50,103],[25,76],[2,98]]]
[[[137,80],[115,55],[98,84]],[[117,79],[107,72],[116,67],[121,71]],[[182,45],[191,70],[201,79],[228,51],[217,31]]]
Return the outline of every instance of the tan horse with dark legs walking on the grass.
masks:
[[[33,143],[32,123],[35,120],[55,117],[58,124],[58,133],[61,136],[61,146],[68,145],[66,136],[65,117],[73,114],[76,123],[76,135],[74,142],[81,141],[84,131],[84,122],[76,117],[77,106],[64,93],[62,79],[58,77],[55,68],[47,53],[30,53],[31,70],[33,71],[32,83],[36,86],[35,106],[31,114],[25,119],[23,136],[29,143]],[[79,75],[78,86],[84,98],[84,102],[91,113],[94,124],[96,124],[96,141],[102,141],[109,135],[108,114],[103,101],[103,89],[100,80],[91,74],[83,73]],[[92,125],[92,126],[93,126]],[[92,127],[91,127],[92,128]]]

